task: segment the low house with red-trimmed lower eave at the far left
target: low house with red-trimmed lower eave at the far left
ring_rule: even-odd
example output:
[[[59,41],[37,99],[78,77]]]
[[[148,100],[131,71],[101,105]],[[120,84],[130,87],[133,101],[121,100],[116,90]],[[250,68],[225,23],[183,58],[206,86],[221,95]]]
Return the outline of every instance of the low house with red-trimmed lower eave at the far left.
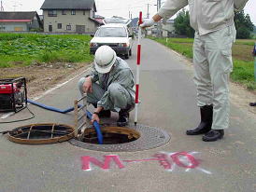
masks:
[[[0,12],[0,31],[1,32],[28,32],[43,28],[43,23],[36,11],[30,12]]]

